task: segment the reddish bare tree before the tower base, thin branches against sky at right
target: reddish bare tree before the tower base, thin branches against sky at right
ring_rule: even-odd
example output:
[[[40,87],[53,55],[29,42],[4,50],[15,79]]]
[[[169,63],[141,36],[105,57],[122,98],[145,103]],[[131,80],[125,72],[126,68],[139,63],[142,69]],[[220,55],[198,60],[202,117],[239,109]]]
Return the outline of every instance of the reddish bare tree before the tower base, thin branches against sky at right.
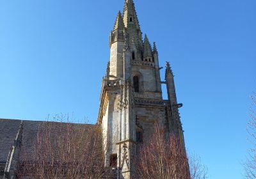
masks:
[[[156,125],[154,134],[141,146],[136,162],[136,178],[205,179],[207,171],[198,159],[188,161],[179,138],[170,135],[166,139],[164,129]]]

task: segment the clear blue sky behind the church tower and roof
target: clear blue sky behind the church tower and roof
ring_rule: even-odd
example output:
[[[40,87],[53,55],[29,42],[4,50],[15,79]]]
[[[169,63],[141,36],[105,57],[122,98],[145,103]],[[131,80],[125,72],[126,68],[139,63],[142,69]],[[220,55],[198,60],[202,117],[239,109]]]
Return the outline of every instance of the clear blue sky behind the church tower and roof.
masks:
[[[172,65],[188,150],[202,157],[210,178],[243,178],[256,90],[256,1],[134,2],[161,66]],[[0,0],[0,118],[69,113],[95,123],[109,32],[123,6]]]

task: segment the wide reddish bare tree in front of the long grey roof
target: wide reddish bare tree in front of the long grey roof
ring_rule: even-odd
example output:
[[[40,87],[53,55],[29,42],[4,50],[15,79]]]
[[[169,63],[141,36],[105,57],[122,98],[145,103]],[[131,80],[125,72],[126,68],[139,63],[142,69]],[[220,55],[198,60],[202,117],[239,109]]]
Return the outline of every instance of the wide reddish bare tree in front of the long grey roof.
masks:
[[[103,148],[96,125],[42,123],[33,150],[24,148],[19,178],[102,178]]]

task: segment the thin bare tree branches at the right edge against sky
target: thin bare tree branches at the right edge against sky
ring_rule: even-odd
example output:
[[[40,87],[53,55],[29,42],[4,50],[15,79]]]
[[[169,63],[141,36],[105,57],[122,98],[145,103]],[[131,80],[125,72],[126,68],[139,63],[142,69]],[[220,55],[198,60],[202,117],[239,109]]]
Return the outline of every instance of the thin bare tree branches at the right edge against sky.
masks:
[[[248,152],[248,158],[244,164],[245,178],[256,178],[256,93],[252,95],[252,107],[250,108],[251,120],[248,123],[247,131],[250,135],[252,148]]]

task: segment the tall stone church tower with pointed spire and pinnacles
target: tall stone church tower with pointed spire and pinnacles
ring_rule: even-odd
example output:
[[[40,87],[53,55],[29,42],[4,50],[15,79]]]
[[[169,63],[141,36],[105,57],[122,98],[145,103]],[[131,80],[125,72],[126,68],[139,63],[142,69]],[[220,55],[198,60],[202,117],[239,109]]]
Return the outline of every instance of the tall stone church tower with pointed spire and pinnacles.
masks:
[[[125,0],[109,36],[110,61],[102,80],[97,123],[102,126],[106,167],[116,167],[120,178],[134,178],[138,148],[159,123],[166,132],[180,137],[182,124],[170,63],[166,62],[161,81],[156,43],[142,38],[132,0]],[[161,84],[166,84],[168,100],[163,100]],[[184,146],[185,148],[185,146]]]

